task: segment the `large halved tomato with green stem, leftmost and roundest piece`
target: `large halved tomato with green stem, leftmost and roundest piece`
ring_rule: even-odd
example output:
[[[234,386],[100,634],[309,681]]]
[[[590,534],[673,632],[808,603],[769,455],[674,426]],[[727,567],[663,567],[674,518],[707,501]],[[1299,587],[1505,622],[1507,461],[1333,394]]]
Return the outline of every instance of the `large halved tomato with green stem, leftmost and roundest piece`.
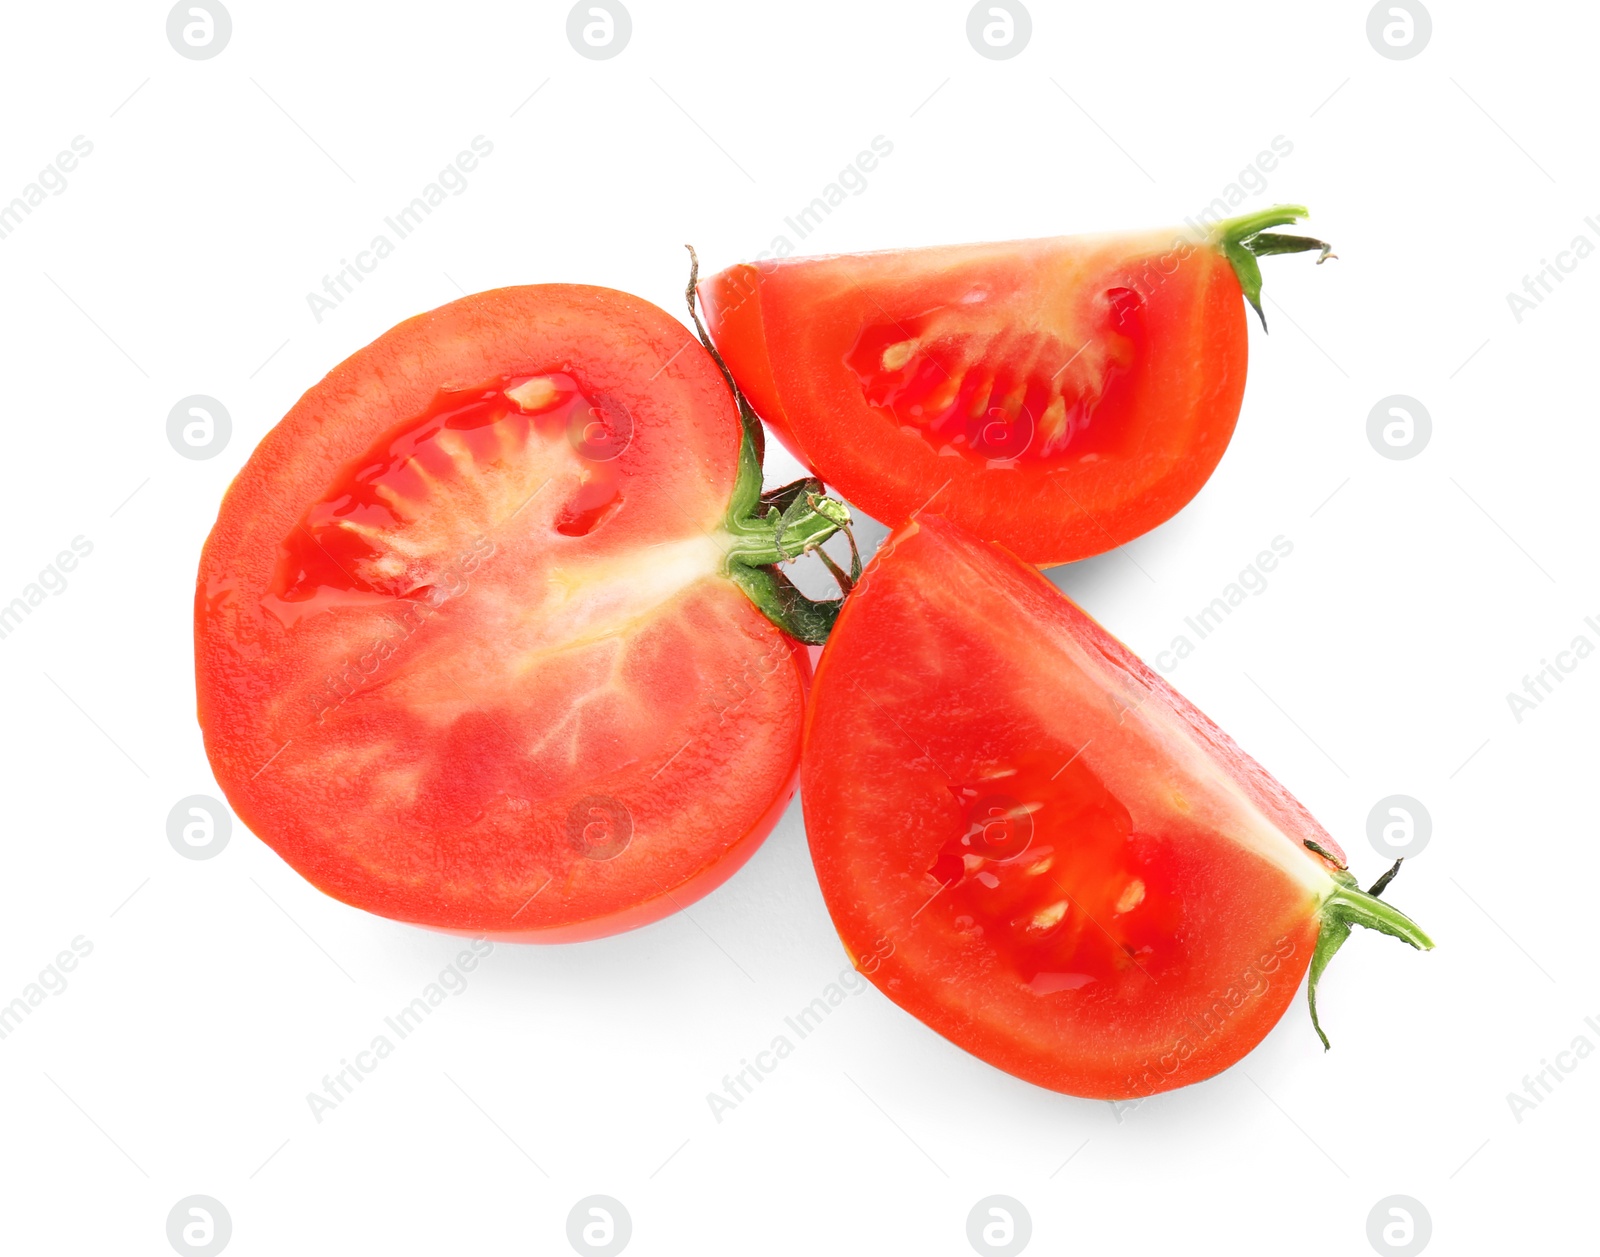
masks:
[[[726,379],[638,297],[402,323],[262,440],[206,539],[218,782],[384,916],[538,940],[664,916],[794,790],[810,664],[779,624],[806,625],[763,565],[848,517],[790,489],[760,497]]]

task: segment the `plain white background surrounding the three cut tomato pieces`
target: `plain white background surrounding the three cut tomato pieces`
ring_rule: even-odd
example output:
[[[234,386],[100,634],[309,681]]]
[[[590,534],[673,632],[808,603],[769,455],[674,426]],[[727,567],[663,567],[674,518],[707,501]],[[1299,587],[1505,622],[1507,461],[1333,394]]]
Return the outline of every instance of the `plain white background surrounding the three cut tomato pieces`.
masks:
[[[170,1252],[192,1193],[224,1203],[237,1254],[566,1252],[590,1193],[626,1204],[640,1257],[963,1254],[992,1193],[1037,1252],[1365,1254],[1394,1193],[1434,1252],[1592,1244],[1600,1059],[1520,1123],[1506,1094],[1600,1046],[1600,657],[1520,723],[1506,694],[1600,643],[1600,259],[1520,323],[1506,294],[1600,243],[1600,16],[1440,0],[1430,45],[1392,61],[1363,3],[1035,3],[1026,51],[989,61],[966,11],[634,0],[630,45],[589,61],[566,5],[235,0],[226,51],[189,61],[163,5],[6,6],[0,202],[74,136],[94,149],[0,240],[0,601],[72,537],[93,553],[0,641],[0,1001],[75,936],[93,953],[0,1041],[0,1247]],[[478,134],[467,190],[318,323],[306,294]],[[846,964],[797,800],[686,913],[496,947],[318,1124],[306,1094],[459,944],[323,897],[242,827],[211,860],[168,844],[173,804],[218,793],[190,598],[222,489],[392,323],[552,280],[677,312],[686,240],[710,267],[752,257],[880,134],[893,155],[806,251],[1178,222],[1293,142],[1246,208],[1309,203],[1339,261],[1267,261],[1272,334],[1251,329],[1200,497],[1054,576],[1154,657],[1290,539],[1171,680],[1363,880],[1371,806],[1427,806],[1390,897],[1438,950],[1354,939],[1323,987],[1330,1054],[1298,1001],[1240,1067],[1122,1121],[867,990],[718,1124],[706,1094]],[[166,441],[189,393],[232,413],[214,459]],[[1410,461],[1366,440],[1392,393],[1432,414]]]

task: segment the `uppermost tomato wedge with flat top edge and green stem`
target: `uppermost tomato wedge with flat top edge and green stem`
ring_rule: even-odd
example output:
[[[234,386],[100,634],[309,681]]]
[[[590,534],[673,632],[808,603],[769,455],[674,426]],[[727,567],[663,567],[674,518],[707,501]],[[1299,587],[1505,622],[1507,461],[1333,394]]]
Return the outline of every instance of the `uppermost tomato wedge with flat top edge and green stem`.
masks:
[[[938,510],[1066,563],[1210,478],[1245,395],[1258,254],[1328,256],[1266,230],[1304,213],[741,264],[701,297],[755,411],[848,501],[890,525]]]

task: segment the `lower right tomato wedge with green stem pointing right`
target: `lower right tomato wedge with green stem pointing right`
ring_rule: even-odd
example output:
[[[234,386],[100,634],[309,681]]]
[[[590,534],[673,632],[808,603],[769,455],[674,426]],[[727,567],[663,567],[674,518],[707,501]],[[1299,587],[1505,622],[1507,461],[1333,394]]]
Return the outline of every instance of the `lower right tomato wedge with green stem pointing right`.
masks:
[[[802,800],[858,968],[966,1051],[1074,1095],[1218,1073],[1307,968],[1315,1020],[1355,924],[1432,947],[1227,734],[1035,569],[936,515],[891,536],[838,617]]]

